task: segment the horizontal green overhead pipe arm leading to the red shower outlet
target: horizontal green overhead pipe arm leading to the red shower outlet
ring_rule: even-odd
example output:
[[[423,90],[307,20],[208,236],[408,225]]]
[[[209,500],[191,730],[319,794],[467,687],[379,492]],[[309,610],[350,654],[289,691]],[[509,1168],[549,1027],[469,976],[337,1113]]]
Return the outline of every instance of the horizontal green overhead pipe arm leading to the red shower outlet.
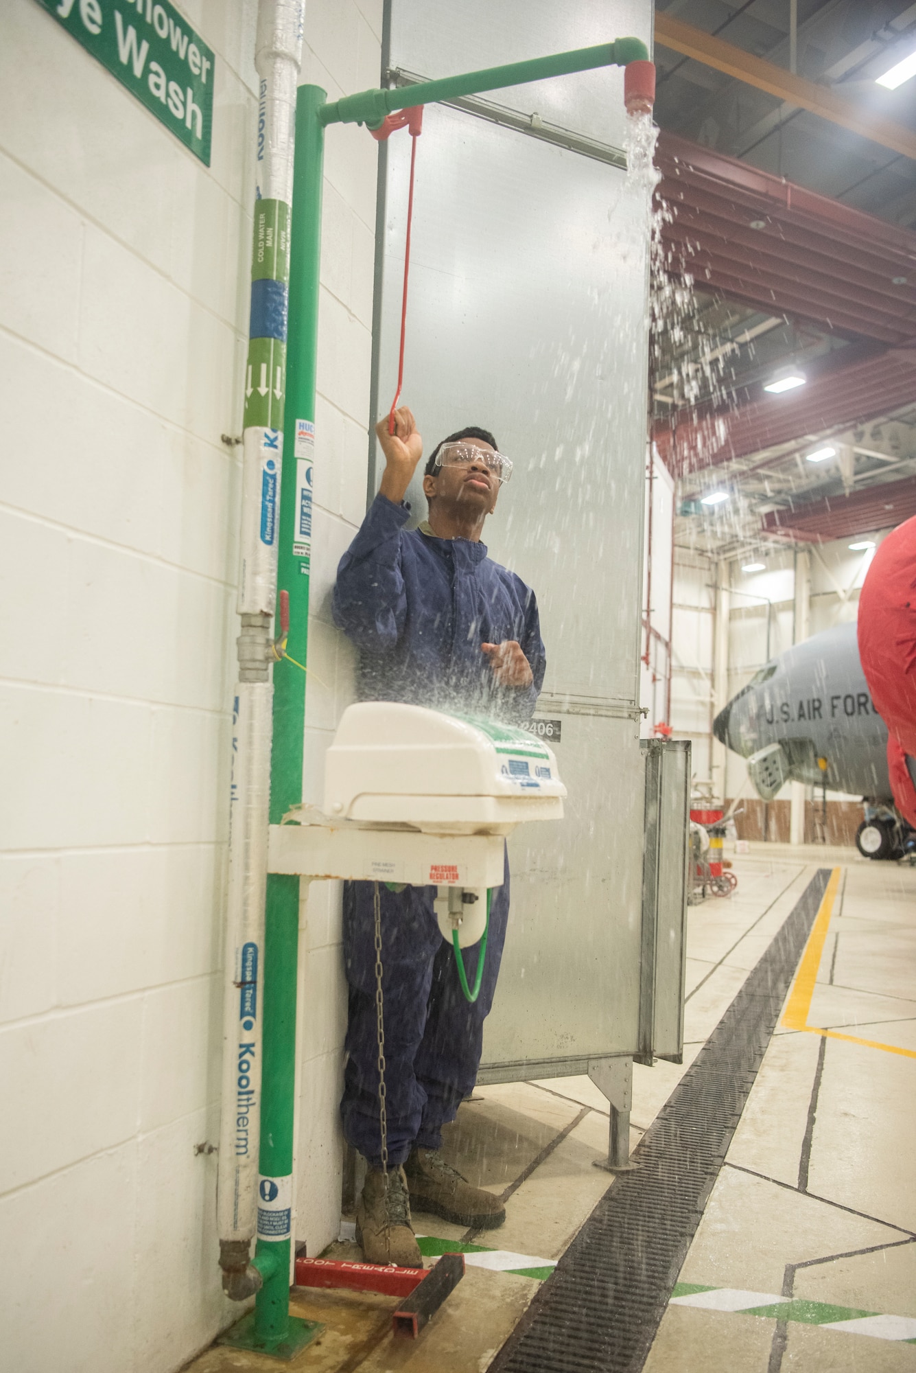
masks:
[[[599,43],[594,48],[554,52],[549,58],[510,62],[505,67],[487,67],[484,71],[465,71],[458,77],[422,81],[407,88],[361,91],[358,95],[347,95],[343,100],[326,104],[318,117],[322,124],[365,124],[370,129],[377,129],[384,124],[385,117],[395,110],[433,104],[436,100],[455,100],[462,95],[480,95],[481,91],[502,91],[506,86],[528,85],[529,81],[565,77],[572,71],[625,67],[631,62],[647,60],[649,48],[642,38],[617,38],[616,43]]]

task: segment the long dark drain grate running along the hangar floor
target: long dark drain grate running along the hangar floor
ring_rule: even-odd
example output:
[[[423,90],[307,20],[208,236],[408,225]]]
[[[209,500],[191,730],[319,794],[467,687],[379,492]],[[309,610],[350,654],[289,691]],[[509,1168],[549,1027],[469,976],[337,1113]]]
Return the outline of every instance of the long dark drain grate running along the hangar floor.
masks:
[[[820,868],[491,1373],[639,1373],[820,906]]]

